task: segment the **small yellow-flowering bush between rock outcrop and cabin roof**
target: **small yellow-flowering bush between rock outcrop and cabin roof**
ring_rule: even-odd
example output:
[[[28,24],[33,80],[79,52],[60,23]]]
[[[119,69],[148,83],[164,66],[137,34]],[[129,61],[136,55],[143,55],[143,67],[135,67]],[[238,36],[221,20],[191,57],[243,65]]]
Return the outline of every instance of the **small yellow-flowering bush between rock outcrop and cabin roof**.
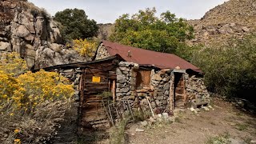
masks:
[[[98,42],[88,39],[74,39],[74,50],[76,50],[83,57],[91,58],[97,49]]]

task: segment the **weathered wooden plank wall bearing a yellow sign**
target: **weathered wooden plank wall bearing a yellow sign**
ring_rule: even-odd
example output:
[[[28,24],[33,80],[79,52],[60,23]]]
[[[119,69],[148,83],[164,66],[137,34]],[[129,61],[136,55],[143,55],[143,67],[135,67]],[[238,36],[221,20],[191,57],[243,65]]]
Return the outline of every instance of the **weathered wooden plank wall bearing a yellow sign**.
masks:
[[[114,60],[92,63],[82,69],[80,81],[80,118],[82,130],[98,130],[110,127],[106,113],[106,103],[110,98],[103,98],[103,93],[113,92],[116,80],[116,62]],[[112,94],[111,94],[112,95]]]

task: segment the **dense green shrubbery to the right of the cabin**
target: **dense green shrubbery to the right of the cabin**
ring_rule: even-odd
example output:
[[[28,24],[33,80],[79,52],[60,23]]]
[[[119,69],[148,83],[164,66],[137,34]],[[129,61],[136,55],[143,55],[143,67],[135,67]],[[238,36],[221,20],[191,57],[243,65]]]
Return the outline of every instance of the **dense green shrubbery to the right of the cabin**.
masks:
[[[209,90],[227,98],[246,98],[256,103],[255,35],[183,52],[183,56],[205,73]],[[190,57],[187,57],[189,54]]]

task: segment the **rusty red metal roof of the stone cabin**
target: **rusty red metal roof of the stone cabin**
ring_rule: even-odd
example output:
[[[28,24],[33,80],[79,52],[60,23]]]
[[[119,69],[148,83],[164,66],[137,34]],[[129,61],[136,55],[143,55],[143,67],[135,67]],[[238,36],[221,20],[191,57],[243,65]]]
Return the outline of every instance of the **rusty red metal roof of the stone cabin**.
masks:
[[[175,54],[166,54],[132,46],[125,46],[116,42],[102,41],[102,43],[111,56],[118,54],[126,62],[134,62],[144,66],[155,66],[160,69],[175,69],[175,67],[179,66],[182,70],[190,69],[202,73],[202,70],[197,66],[179,58]],[[130,56],[128,53],[130,53]]]

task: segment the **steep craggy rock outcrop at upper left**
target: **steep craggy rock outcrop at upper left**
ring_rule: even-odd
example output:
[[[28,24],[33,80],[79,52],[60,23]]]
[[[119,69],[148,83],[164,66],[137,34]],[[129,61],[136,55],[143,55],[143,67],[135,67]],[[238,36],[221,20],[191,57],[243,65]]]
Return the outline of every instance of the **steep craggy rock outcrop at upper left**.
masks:
[[[0,18],[0,54],[18,52],[30,69],[86,61],[62,45],[56,22],[34,4],[2,0]]]

